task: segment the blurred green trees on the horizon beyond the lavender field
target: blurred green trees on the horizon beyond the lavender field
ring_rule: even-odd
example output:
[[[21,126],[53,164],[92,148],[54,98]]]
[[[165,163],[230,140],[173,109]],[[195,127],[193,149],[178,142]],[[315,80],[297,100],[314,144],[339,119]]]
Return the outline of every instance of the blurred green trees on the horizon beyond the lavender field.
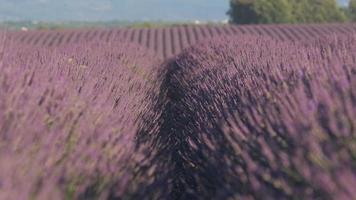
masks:
[[[356,0],[230,0],[228,15],[236,24],[356,22]]]

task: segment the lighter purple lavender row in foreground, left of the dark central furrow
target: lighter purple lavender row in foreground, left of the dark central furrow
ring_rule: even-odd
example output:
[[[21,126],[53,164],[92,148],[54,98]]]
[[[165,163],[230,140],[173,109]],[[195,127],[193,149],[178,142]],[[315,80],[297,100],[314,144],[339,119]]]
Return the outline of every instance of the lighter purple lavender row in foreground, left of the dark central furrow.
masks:
[[[159,60],[140,46],[96,41],[55,50],[8,41],[0,62],[0,199],[130,196],[149,160]],[[147,133],[149,134],[149,133]]]

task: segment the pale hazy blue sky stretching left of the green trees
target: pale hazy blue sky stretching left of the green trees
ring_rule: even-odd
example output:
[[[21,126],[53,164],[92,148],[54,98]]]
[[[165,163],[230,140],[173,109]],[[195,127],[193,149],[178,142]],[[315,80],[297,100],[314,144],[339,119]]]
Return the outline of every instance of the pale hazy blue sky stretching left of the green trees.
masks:
[[[0,0],[0,20],[223,20],[229,0]]]

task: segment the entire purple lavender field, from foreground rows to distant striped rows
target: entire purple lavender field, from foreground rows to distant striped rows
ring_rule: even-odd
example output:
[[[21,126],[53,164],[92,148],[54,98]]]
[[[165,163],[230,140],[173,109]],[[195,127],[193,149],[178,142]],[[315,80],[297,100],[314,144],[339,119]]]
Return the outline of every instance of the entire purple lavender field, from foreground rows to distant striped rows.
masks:
[[[0,199],[356,199],[355,31],[2,31]]]

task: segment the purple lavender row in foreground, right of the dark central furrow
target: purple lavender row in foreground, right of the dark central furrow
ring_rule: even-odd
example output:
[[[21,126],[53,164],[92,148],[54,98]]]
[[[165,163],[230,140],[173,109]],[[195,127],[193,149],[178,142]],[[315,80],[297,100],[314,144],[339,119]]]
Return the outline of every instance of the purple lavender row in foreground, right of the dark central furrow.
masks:
[[[171,199],[356,198],[355,44],[227,38],[171,61],[152,141],[172,170],[163,190]]]

